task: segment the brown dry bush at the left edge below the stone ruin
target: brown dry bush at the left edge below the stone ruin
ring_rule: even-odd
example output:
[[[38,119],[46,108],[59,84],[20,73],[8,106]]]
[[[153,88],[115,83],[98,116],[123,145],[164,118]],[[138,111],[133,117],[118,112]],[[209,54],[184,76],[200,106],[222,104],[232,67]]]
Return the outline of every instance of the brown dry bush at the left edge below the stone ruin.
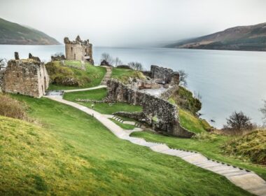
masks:
[[[0,115],[20,120],[29,120],[26,106],[6,94],[0,94]]]

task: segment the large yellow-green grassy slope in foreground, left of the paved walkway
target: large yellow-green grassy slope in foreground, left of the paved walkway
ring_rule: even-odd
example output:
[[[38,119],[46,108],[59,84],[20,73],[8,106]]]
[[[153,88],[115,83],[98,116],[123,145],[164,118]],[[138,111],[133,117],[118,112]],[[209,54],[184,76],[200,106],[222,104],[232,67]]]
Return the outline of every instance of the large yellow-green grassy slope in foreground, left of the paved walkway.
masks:
[[[120,140],[70,106],[13,97],[44,128],[1,121],[2,195],[249,195],[223,176]]]

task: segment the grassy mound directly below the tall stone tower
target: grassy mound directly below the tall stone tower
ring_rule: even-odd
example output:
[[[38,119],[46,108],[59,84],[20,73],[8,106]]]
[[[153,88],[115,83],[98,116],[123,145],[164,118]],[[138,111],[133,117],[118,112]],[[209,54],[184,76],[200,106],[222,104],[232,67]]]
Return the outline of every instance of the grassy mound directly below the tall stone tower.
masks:
[[[102,66],[93,66],[89,63],[85,63],[86,71],[80,69],[74,69],[67,66],[61,66],[59,62],[51,62],[55,69],[52,70],[52,73],[49,73],[51,78],[63,78],[70,77],[77,80],[82,80],[83,85],[80,86],[67,86],[67,85],[58,85],[50,84],[49,90],[71,90],[78,88],[94,87],[99,85],[104,78],[106,69]],[[46,65],[46,67],[48,67]],[[60,72],[59,72],[60,71]],[[48,69],[49,72],[49,69]]]

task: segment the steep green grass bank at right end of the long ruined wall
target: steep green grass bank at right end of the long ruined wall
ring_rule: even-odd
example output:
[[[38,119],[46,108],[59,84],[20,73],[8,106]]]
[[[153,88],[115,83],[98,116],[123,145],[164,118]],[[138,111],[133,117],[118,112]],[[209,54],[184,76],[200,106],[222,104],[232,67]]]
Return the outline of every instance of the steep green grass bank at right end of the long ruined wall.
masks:
[[[190,130],[190,132],[202,133],[211,128],[206,120],[197,118],[193,113],[183,109],[179,109],[179,120],[182,127]]]

